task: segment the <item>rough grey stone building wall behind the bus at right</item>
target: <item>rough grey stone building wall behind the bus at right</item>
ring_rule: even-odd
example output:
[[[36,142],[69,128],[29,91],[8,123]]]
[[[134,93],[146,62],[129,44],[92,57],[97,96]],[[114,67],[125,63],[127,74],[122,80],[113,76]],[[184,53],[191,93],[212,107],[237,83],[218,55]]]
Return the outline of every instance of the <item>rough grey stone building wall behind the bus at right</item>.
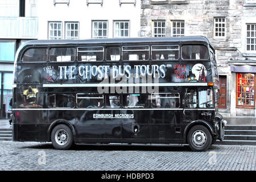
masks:
[[[225,38],[214,38],[215,17],[225,17]],[[184,20],[185,36],[203,35],[210,40],[216,50],[218,72],[227,76],[230,112],[231,88],[236,88],[236,82],[231,77],[229,60],[244,61],[245,55],[256,60],[256,52],[248,54],[245,48],[246,23],[256,23],[256,6],[245,0],[168,0],[162,4],[142,0],[139,36],[152,36],[152,20],[166,20],[166,36],[171,36],[172,20]]]

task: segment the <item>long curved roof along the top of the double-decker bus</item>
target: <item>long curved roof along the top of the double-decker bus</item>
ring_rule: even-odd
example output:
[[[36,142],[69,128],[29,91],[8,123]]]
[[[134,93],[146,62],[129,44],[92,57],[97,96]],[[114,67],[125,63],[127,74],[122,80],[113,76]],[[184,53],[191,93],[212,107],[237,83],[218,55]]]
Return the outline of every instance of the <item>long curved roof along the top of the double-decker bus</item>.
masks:
[[[160,38],[106,38],[106,39],[84,39],[84,40],[30,40],[23,46],[35,46],[46,44],[118,44],[118,43],[205,43],[210,44],[204,36],[181,36],[181,37],[160,37]],[[213,46],[212,46],[213,47]]]

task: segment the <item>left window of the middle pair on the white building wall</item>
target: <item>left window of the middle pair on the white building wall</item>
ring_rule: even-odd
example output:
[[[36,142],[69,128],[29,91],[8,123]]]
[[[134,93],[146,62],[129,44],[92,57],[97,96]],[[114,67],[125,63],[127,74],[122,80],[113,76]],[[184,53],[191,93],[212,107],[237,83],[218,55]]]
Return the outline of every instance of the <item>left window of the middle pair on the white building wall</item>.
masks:
[[[92,38],[108,38],[108,22],[93,22]]]

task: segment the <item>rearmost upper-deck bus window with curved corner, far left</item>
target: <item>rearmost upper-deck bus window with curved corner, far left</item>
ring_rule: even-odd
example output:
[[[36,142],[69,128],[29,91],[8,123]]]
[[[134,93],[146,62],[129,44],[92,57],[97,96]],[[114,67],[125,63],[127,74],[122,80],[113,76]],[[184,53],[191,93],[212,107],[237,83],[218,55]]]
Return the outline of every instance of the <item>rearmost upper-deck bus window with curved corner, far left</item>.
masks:
[[[47,61],[47,48],[31,48],[28,49],[23,57],[23,62],[31,62],[31,61]]]

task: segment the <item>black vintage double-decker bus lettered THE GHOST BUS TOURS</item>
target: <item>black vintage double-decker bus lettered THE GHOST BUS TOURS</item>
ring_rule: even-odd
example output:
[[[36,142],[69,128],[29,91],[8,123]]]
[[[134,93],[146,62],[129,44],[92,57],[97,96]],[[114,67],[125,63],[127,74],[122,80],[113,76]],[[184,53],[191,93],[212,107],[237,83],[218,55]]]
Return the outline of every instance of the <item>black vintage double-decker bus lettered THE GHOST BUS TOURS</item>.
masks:
[[[31,40],[16,53],[13,140],[205,151],[224,138],[218,89],[203,36]]]

